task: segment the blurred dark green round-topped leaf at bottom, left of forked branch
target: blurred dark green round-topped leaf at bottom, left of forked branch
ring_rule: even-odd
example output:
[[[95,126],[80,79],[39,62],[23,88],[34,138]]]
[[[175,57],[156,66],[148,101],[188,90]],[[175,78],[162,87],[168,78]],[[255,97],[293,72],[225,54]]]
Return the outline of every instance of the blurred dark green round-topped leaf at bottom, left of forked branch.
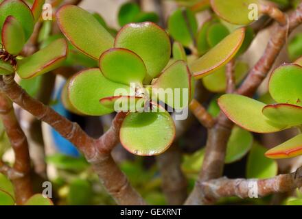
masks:
[[[91,183],[84,179],[75,179],[71,182],[67,203],[69,205],[91,205],[93,189]]]

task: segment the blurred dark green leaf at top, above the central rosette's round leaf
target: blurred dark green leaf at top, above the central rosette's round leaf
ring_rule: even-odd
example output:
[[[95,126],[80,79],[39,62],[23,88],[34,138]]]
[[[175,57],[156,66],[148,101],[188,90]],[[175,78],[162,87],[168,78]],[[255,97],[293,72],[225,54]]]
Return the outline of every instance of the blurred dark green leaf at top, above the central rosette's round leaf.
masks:
[[[117,15],[119,26],[123,27],[128,23],[132,23],[139,12],[141,12],[141,9],[137,3],[128,2],[121,5],[121,8],[119,8],[119,14]]]

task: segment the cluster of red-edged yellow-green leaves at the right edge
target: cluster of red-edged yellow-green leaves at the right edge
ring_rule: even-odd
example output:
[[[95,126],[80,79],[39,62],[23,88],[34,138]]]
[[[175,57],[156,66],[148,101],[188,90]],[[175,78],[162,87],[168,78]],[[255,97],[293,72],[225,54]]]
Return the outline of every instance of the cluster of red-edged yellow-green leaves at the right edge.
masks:
[[[268,82],[272,99],[266,105],[237,94],[224,94],[218,99],[221,110],[234,123],[257,133],[272,133],[302,125],[302,59],[274,70]],[[271,158],[302,155],[302,134],[267,151]]]

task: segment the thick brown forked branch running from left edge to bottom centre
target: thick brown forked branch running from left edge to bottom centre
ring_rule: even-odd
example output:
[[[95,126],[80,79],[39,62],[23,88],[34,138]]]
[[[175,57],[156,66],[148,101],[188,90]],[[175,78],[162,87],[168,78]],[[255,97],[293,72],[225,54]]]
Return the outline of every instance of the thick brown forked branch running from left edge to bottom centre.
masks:
[[[3,76],[0,88],[16,104],[30,112],[39,120],[49,124],[58,133],[85,155],[93,165],[104,187],[120,205],[144,205],[143,198],[131,187],[127,177],[119,169],[110,155],[110,150],[119,141],[119,128],[123,114],[118,114],[113,121],[113,127],[100,139],[86,135],[77,123],[71,123],[67,118],[47,107],[40,101],[32,99],[15,81],[12,75]]]

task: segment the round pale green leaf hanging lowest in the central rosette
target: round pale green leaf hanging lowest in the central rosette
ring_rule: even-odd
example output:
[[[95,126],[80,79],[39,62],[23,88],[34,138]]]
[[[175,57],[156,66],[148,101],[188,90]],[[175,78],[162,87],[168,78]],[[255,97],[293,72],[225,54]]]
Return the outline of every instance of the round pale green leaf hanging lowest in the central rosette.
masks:
[[[153,105],[155,111],[158,106]],[[175,137],[174,122],[163,109],[159,112],[129,113],[121,125],[119,138],[124,148],[135,155],[159,155]]]

